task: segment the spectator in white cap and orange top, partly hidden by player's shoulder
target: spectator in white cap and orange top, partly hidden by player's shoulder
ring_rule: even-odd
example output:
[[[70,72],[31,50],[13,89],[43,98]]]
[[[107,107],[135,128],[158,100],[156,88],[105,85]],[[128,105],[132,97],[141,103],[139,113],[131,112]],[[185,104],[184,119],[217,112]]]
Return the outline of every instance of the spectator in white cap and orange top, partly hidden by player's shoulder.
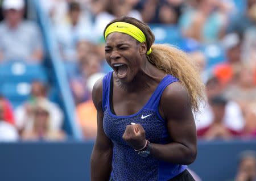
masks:
[[[102,77],[104,77],[102,73],[90,75],[87,83],[90,95],[92,94],[94,83]],[[95,139],[97,134],[97,111],[94,107],[92,96],[86,102],[77,105],[76,113],[85,139]]]

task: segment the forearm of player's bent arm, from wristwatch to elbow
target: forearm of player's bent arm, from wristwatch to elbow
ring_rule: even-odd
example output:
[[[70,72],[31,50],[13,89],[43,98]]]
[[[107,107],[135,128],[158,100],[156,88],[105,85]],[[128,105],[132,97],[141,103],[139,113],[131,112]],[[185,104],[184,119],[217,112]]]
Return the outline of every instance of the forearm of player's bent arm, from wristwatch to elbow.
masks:
[[[176,163],[181,165],[189,165],[195,161],[197,149],[195,146],[185,146],[176,142],[162,145],[151,144],[150,155],[162,161]]]

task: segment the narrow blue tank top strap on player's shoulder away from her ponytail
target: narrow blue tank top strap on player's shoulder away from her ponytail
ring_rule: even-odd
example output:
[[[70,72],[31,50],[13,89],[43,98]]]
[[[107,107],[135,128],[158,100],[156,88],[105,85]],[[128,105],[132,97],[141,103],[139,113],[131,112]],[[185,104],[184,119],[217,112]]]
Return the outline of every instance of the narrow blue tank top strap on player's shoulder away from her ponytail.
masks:
[[[102,110],[105,111],[105,108],[108,106],[109,102],[109,87],[112,78],[113,71],[110,71],[102,79]]]

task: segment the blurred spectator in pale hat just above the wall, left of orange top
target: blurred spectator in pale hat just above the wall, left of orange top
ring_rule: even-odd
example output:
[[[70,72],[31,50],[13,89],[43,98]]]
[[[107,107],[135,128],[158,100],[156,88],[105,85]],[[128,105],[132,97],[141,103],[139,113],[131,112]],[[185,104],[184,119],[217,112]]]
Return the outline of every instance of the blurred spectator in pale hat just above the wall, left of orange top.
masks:
[[[51,104],[46,99],[35,103],[32,116],[32,129],[22,133],[23,140],[64,140],[65,134],[61,130],[51,128]]]

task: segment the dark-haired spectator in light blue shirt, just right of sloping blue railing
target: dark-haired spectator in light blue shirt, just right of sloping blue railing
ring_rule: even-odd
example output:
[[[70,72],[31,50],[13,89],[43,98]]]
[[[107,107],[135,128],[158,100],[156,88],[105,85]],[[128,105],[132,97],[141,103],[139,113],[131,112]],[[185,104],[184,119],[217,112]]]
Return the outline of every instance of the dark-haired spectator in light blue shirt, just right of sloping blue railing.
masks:
[[[68,3],[67,18],[62,23],[55,25],[60,53],[65,61],[77,61],[77,42],[80,40],[94,41],[92,24],[83,15],[80,4],[71,1]]]

